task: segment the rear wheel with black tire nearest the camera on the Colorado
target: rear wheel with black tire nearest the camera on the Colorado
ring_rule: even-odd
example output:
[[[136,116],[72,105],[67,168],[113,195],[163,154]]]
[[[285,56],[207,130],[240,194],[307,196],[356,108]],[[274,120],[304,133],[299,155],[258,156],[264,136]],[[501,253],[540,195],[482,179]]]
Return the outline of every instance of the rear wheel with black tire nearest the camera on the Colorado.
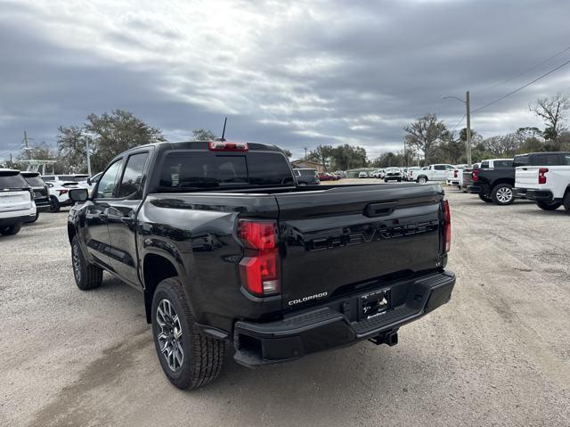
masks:
[[[168,305],[164,302],[165,300]],[[175,314],[174,319],[159,315],[159,307],[174,309],[171,312]],[[182,283],[177,277],[170,277],[159,283],[152,297],[151,309],[154,344],[160,365],[168,381],[179,389],[186,390],[197,389],[215,380],[222,371],[225,342],[200,332],[186,301]],[[162,309],[161,312],[165,313],[165,310]],[[161,321],[160,318],[162,318]],[[175,338],[178,333],[179,338]],[[162,343],[159,336],[163,336]],[[169,354],[173,355],[174,368],[170,366],[170,357],[167,357],[162,349],[165,351],[171,349]],[[182,362],[176,357],[181,353]],[[178,364],[177,368],[176,364]]]

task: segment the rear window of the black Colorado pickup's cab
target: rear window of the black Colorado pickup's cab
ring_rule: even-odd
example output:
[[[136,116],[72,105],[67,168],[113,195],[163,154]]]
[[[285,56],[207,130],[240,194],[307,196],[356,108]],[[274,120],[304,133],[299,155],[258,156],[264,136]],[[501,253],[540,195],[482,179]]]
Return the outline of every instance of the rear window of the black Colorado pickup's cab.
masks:
[[[278,152],[168,152],[159,179],[160,189],[176,191],[292,184],[289,162]]]

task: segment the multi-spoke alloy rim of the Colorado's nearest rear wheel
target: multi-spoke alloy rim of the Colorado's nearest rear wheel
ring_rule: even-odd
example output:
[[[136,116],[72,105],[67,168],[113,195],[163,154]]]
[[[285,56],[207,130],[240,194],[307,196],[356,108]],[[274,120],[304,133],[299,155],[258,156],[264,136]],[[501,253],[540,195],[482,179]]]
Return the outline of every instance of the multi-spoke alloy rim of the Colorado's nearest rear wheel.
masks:
[[[160,300],[157,307],[157,324],[160,328],[157,332],[160,353],[165,358],[168,368],[176,372],[180,370],[184,361],[183,331],[180,318],[169,300]]]

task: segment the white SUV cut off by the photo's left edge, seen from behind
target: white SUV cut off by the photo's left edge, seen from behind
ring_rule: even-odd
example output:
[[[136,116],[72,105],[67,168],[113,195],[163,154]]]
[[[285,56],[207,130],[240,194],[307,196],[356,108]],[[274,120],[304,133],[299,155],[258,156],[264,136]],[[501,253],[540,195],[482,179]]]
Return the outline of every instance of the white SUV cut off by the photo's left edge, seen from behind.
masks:
[[[0,168],[0,234],[18,234],[36,213],[34,193],[20,171]]]

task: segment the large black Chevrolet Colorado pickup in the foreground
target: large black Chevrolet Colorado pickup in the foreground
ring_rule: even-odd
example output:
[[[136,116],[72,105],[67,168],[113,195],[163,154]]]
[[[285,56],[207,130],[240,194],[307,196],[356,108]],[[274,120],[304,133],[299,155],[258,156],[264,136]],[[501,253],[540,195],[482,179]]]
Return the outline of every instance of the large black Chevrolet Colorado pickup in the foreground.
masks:
[[[439,185],[298,186],[273,145],[137,147],[88,195],[69,191],[73,273],[141,290],[175,386],[397,331],[451,298],[449,205]]]

